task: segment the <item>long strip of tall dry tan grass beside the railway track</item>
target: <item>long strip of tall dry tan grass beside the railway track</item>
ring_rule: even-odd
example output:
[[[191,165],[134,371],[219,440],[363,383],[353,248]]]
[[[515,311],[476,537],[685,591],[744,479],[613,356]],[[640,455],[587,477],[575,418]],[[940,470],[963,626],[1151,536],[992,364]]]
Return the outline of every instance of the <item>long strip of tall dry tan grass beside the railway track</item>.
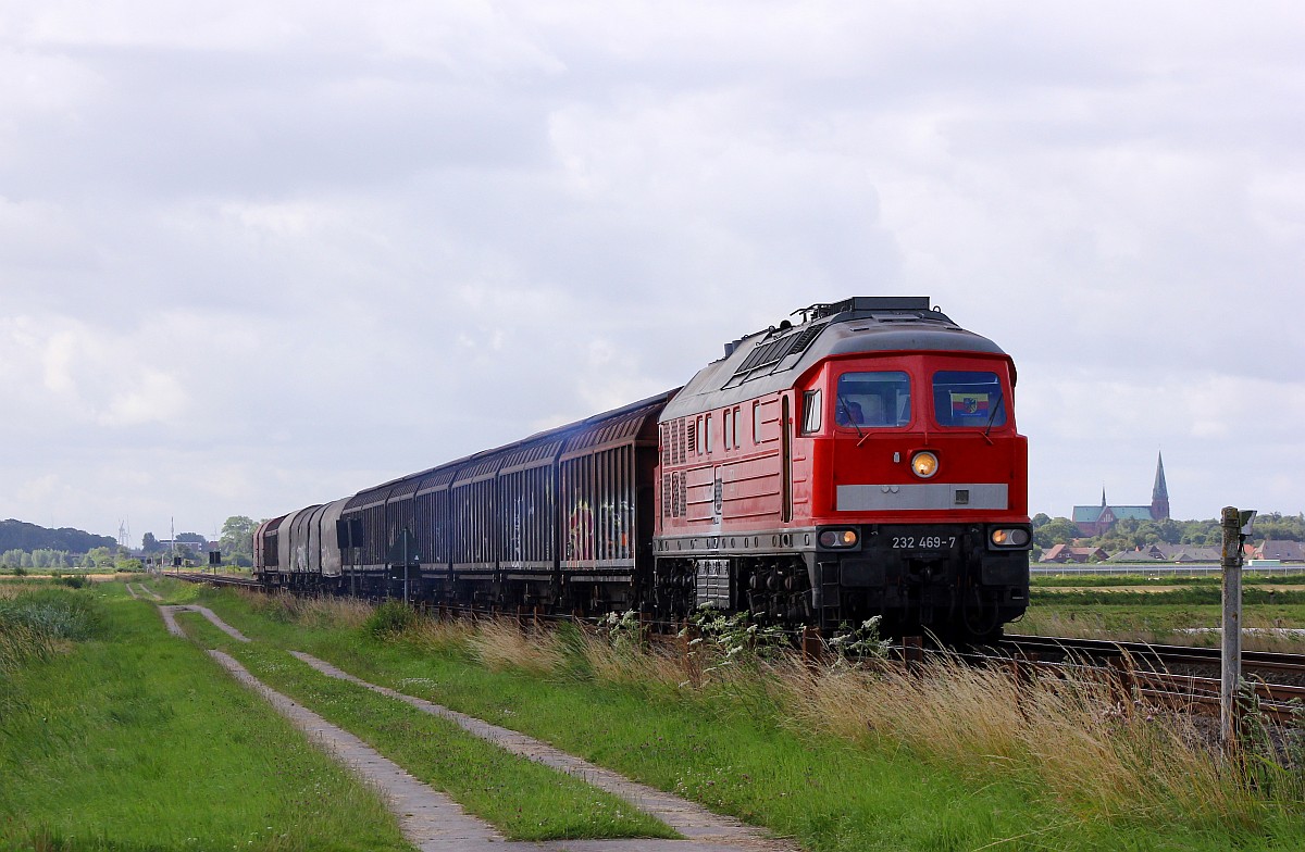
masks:
[[[1242,761],[1221,755],[1189,716],[1144,705],[1090,669],[1062,677],[958,658],[916,669],[810,668],[792,659],[718,667],[710,648],[688,654],[684,645],[594,629],[569,637],[522,630],[512,620],[480,621],[466,641],[495,669],[557,676],[579,665],[603,682],[774,698],[795,729],[904,748],[976,780],[1031,784],[1084,818],[1248,826],[1267,805]]]

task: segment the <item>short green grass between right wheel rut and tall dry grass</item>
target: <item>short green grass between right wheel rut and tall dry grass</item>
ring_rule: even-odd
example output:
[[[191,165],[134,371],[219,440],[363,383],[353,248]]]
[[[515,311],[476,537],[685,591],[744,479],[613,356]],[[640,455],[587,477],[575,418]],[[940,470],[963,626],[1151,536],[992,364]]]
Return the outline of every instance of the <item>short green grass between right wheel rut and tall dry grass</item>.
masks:
[[[796,723],[763,676],[706,690],[488,671],[465,643],[377,641],[360,626],[296,622],[283,601],[205,592],[247,635],[295,647],[401,692],[552,742],[820,852],[852,849],[1297,849],[1305,825],[1274,805],[1238,822],[1084,812],[1035,772],[953,765]],[[305,626],[308,625],[308,626]],[[407,634],[405,634],[407,635]],[[868,697],[873,701],[873,697]],[[930,712],[929,706],[917,708]],[[996,758],[993,758],[996,759]],[[988,763],[990,766],[990,763]]]

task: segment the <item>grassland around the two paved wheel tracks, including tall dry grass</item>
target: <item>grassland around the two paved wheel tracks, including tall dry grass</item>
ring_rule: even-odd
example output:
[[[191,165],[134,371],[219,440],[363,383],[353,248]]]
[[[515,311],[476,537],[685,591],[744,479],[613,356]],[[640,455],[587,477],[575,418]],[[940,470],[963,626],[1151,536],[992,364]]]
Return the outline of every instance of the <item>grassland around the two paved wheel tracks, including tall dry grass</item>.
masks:
[[[95,613],[94,629],[0,651],[0,848],[407,848],[365,788],[205,647],[241,655],[274,688],[432,779],[444,749],[416,748],[436,736],[423,720],[317,680],[286,651],[523,731],[813,852],[1305,848],[1298,767],[1250,778],[1173,735],[1169,720],[1105,703],[1108,690],[1084,686],[1075,698],[959,669],[809,672],[748,654],[672,659],[615,633],[522,634],[354,601],[151,587],[214,608],[254,645],[238,647],[193,617],[184,624],[194,641],[168,637],[153,604],[127,599],[120,582],[59,590],[65,608]],[[0,592],[10,638],[20,630],[4,612],[31,591]],[[491,762],[454,761],[454,774],[497,774],[450,793],[504,825],[495,802],[526,806],[539,780]],[[612,809],[585,796],[561,791],[548,805],[590,826],[562,834],[656,834],[633,818],[612,830],[595,819]]]

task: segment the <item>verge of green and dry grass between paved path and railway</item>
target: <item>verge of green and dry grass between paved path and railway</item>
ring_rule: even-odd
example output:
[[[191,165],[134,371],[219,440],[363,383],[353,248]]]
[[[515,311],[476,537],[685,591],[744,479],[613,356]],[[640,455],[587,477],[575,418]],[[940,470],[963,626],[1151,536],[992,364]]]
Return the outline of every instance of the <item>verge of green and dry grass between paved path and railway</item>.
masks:
[[[809,849],[1305,845],[1291,778],[1257,792],[1203,744],[1165,733],[1165,719],[1088,689],[1028,692],[1000,672],[964,688],[940,671],[903,682],[837,669],[812,680],[576,631],[419,621],[373,635],[358,626],[365,616],[331,626],[315,604],[292,613],[256,596],[205,596],[247,635],[523,731]],[[1201,771],[1164,771],[1189,757]]]

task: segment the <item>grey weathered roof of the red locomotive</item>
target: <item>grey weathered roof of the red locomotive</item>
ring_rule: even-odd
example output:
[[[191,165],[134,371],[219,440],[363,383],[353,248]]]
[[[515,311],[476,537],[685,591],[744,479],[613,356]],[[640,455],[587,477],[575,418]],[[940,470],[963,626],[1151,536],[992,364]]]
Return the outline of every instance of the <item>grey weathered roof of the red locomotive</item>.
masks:
[[[729,406],[784,390],[820,360],[855,352],[989,352],[1005,355],[992,341],[967,331],[928,296],[855,296],[795,311],[788,320],[726,343],[726,355],[676,394],[660,420]]]

